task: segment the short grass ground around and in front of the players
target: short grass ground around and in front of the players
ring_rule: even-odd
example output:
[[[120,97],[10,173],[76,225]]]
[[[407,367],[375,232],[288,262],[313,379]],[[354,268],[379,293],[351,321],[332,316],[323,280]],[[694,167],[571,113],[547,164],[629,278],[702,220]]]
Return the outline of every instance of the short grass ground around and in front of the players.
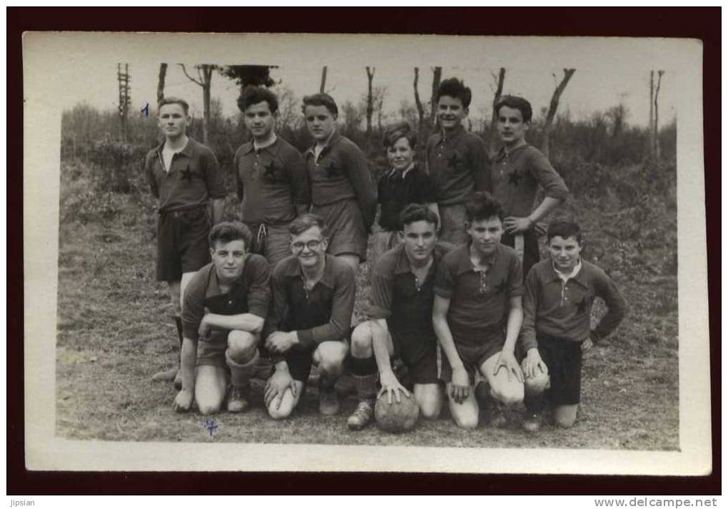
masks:
[[[506,429],[483,423],[477,430],[460,430],[445,409],[437,422],[421,422],[406,435],[387,435],[374,427],[351,433],[346,416],[355,399],[344,399],[341,415],[323,417],[318,414],[316,390],[306,392],[290,419],[277,422],[264,411],[262,382],[254,381],[253,408],[245,414],[215,415],[218,428],[210,436],[205,417],[172,410],[171,384],[150,380],[156,371],[172,366],[178,355],[167,291],[154,280],[156,214],[151,197],[146,189],[92,196],[84,167],[64,163],[61,172],[55,425],[59,436],[106,441],[678,449],[676,244],[675,218],[670,213],[633,211],[641,231],[625,239],[614,229],[630,223],[630,210],[619,215],[612,212],[614,208],[608,212],[606,201],[600,206],[570,202],[564,210],[581,211],[579,221],[590,232],[585,258],[596,260],[612,275],[630,305],[614,336],[585,357],[582,405],[571,430],[546,426],[539,435],[526,435],[520,428],[522,409],[510,411]],[[367,275],[368,266],[363,265],[357,312],[368,293]]]

